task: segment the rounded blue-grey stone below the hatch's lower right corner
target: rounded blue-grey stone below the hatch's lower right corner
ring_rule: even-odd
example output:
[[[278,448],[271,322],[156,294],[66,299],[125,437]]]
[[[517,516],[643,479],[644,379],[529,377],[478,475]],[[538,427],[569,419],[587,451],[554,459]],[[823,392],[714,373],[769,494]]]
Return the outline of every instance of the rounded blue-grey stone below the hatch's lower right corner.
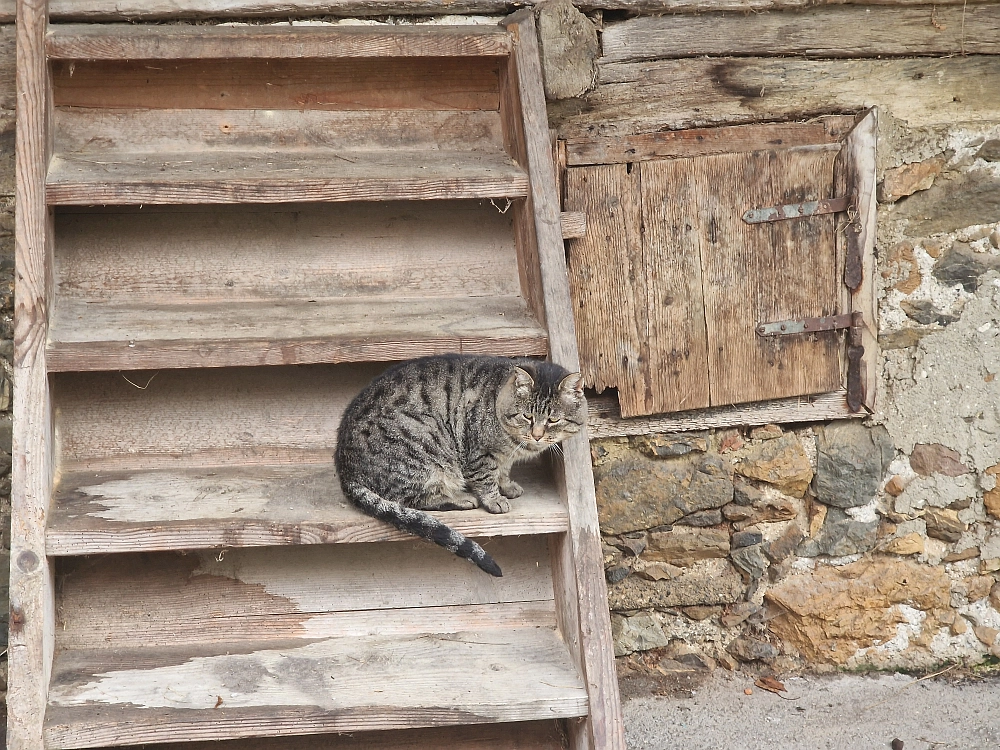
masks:
[[[868,428],[855,420],[832,422],[816,428],[816,439],[816,499],[835,508],[867,505],[895,452],[885,427]]]

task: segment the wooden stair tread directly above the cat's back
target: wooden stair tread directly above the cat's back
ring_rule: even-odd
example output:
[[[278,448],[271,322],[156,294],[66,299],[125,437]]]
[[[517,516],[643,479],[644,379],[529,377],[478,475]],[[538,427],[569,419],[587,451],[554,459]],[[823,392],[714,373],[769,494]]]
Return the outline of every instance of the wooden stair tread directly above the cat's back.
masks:
[[[543,355],[546,341],[520,297],[58,299],[47,363],[60,372],[392,361],[455,351]]]

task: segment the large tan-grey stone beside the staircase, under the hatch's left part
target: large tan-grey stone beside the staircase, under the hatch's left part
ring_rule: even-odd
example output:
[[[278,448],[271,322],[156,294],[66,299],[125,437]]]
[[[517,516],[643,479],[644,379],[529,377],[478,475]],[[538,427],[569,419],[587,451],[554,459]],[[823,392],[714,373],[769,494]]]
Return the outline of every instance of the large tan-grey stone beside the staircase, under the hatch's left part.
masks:
[[[605,534],[667,526],[733,499],[731,467],[714,454],[661,459],[629,451],[595,465],[594,481]]]

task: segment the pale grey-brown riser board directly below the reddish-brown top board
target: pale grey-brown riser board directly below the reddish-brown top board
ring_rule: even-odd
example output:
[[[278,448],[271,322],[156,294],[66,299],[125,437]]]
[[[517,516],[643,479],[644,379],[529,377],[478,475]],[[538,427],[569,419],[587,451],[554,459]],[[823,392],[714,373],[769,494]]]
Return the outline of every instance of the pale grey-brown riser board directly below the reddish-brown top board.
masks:
[[[503,150],[495,110],[101,109],[55,111],[57,154]]]

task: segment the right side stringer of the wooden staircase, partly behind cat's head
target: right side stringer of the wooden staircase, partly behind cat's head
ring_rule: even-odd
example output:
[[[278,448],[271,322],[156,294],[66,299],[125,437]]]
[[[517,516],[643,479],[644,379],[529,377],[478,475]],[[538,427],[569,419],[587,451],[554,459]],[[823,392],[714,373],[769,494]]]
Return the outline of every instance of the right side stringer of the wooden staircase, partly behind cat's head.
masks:
[[[544,290],[549,352],[553,362],[578,371],[580,358],[559,224],[560,206],[549,144],[534,15],[530,9],[518,11],[506,19],[504,25],[515,40],[514,56],[521,91],[530,199],[534,207],[534,233]],[[577,653],[590,696],[590,715],[585,726],[571,725],[570,740],[574,748],[624,750],[590,443],[586,434],[581,434],[564,443],[563,448],[562,474],[569,507],[569,531],[554,555],[556,565],[553,576],[563,632],[573,632],[567,627],[571,624],[579,626]],[[573,588],[576,589],[575,599],[572,597]]]

